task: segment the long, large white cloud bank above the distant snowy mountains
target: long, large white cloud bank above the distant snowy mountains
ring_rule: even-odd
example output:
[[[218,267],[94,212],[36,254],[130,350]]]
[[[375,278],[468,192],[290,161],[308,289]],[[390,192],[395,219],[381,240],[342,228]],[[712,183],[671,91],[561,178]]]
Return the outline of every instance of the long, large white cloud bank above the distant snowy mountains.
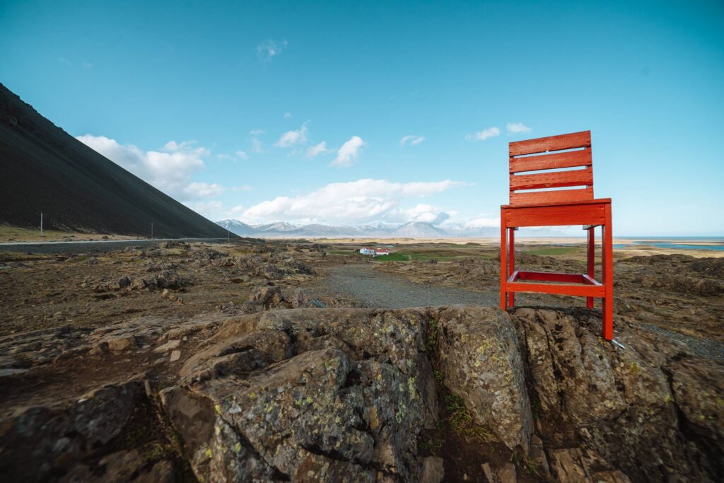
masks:
[[[248,222],[272,222],[280,219],[296,222],[365,223],[384,219],[389,222],[447,218],[445,211],[432,205],[401,209],[405,198],[419,198],[442,193],[465,183],[451,180],[437,182],[390,182],[363,179],[336,182],[306,195],[279,196],[263,201],[240,213]]]

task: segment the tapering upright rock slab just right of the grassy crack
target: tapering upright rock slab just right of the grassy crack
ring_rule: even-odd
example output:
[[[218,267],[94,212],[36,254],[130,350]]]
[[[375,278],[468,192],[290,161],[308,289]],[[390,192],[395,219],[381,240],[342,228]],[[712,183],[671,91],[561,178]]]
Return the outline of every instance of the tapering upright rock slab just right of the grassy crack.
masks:
[[[526,452],[531,408],[523,361],[510,316],[493,307],[452,307],[439,313],[439,366],[447,388],[465,401],[477,424],[508,448]]]

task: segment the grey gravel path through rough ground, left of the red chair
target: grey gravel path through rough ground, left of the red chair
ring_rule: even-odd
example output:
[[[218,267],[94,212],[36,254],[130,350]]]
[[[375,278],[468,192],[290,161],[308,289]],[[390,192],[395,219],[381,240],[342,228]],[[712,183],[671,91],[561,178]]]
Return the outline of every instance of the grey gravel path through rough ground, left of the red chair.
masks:
[[[361,264],[335,267],[329,277],[319,282],[319,290],[340,298],[353,298],[371,308],[452,304],[494,306],[498,303],[497,293],[413,283],[405,277],[379,272],[373,266]]]

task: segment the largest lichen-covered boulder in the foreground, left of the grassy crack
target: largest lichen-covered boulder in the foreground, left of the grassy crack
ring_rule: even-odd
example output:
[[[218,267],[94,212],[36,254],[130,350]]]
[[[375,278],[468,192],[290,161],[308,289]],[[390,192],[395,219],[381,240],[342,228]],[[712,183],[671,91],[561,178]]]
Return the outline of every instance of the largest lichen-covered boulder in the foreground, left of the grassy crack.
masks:
[[[414,310],[242,316],[184,364],[164,408],[205,481],[416,481],[437,407],[424,331]]]

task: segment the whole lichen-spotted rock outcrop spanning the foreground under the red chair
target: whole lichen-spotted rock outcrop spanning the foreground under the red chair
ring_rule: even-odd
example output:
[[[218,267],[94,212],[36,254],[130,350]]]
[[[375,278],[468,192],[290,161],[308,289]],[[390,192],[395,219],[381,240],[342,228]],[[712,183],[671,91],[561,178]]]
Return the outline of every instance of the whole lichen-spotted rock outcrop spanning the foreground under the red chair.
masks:
[[[252,298],[271,310],[0,340],[0,474],[439,482],[455,468],[418,441],[445,444],[450,393],[502,443],[504,457],[474,466],[505,481],[707,482],[724,471],[724,366],[635,324],[617,323],[617,345],[584,309],[274,309],[308,299],[273,286]],[[8,397],[58,365],[74,383],[86,371],[101,381],[96,366],[145,372],[72,397]]]

